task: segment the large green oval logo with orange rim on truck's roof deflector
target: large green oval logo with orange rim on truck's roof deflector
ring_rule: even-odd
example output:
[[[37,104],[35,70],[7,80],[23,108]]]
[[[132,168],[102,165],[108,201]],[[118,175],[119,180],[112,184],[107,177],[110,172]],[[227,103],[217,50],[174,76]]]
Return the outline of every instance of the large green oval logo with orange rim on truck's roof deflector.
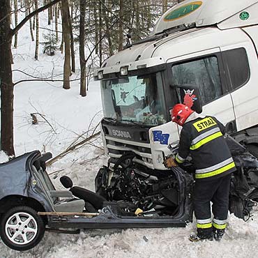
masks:
[[[195,1],[192,3],[188,3],[185,6],[181,6],[177,8],[176,10],[172,10],[170,13],[168,13],[164,21],[165,22],[171,22],[173,20],[180,19],[181,17],[184,17],[186,15],[189,15],[190,13],[197,10],[200,6],[202,6],[202,1]]]

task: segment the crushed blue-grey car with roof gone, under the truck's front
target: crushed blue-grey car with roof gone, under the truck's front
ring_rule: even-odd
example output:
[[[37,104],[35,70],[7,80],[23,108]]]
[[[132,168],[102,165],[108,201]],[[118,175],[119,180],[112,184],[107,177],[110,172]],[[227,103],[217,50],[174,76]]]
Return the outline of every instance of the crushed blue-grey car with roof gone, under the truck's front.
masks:
[[[258,160],[232,137],[227,142],[237,167],[229,211],[248,219],[258,200]],[[29,250],[45,230],[185,227],[193,216],[192,163],[153,170],[134,162],[136,155],[109,160],[96,175],[96,192],[73,186],[68,176],[60,179],[66,189],[56,190],[45,165],[51,153],[32,151],[1,164],[1,240],[14,250]]]

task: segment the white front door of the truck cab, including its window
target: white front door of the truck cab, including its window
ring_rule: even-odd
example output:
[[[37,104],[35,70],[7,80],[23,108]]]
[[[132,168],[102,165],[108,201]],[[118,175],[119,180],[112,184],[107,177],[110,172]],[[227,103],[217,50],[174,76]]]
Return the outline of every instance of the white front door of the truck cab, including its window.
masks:
[[[167,65],[171,91],[174,91],[174,86],[198,86],[202,98],[202,114],[216,116],[225,126],[234,123],[233,103],[220,48],[169,59]]]

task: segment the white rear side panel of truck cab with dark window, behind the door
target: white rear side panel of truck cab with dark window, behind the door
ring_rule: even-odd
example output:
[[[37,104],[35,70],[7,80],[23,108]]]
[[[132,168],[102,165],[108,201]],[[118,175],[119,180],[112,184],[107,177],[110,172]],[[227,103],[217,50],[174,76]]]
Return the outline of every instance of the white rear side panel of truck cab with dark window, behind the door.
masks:
[[[252,26],[248,33],[258,33]],[[258,37],[255,33],[252,36]],[[255,41],[255,38],[254,38]],[[257,125],[258,117],[258,59],[255,45],[251,42],[222,47],[222,56],[229,77],[231,96],[236,114],[236,129],[241,131]],[[257,134],[257,132],[255,132]]]

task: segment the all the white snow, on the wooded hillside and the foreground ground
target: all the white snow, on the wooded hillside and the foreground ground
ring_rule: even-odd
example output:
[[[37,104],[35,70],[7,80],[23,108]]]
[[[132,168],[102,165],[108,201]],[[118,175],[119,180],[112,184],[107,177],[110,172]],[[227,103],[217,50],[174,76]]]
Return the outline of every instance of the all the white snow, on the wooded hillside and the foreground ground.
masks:
[[[40,52],[39,61],[33,60],[33,43],[26,36],[29,35],[27,31],[28,24],[20,33],[18,49],[13,50],[13,69],[35,76],[61,74],[63,56],[60,53],[50,57]],[[73,75],[73,78],[77,75]],[[27,76],[13,73],[14,82],[24,77]],[[94,128],[100,121],[102,107],[98,82],[91,81],[86,98],[79,96],[79,81],[71,83],[70,90],[64,90],[61,86],[61,82],[23,82],[15,86],[16,155],[34,149],[57,155],[78,135],[89,130],[89,126]],[[37,115],[39,123],[32,125],[31,113],[40,113],[45,119]],[[59,178],[68,175],[75,185],[94,190],[96,172],[107,163],[107,158],[103,155],[100,138],[91,144],[69,153],[47,168],[57,189],[63,189]],[[7,160],[8,157],[1,152],[0,162]],[[10,250],[0,241],[0,258],[251,258],[257,257],[257,220],[258,208],[252,212],[248,222],[229,215],[229,225],[220,242],[191,243],[188,236],[195,232],[195,223],[189,223],[186,228],[87,229],[78,235],[46,232],[40,244],[26,252]]]

